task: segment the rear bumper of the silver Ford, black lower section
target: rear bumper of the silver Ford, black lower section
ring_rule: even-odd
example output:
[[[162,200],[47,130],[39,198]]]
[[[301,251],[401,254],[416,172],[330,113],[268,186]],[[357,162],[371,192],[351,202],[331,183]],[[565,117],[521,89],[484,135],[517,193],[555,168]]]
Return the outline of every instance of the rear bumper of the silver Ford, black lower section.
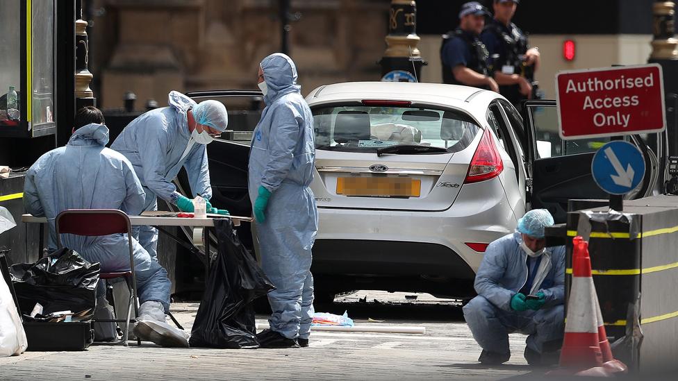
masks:
[[[318,208],[316,273],[472,278],[487,243],[515,229],[498,178],[463,185],[452,208],[439,212]]]

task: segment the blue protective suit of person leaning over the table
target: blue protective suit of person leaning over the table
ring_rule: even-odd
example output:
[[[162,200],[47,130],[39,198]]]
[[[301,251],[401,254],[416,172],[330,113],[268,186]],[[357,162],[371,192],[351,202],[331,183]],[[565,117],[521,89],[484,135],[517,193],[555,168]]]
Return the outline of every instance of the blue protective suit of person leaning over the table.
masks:
[[[207,200],[212,197],[206,146],[191,141],[192,146],[186,152],[190,140],[186,112],[195,105],[188,96],[172,91],[169,106],[144,112],[131,121],[110,146],[129,159],[139,176],[146,193],[144,212],[158,210],[157,197],[174,203],[176,187],[172,180],[181,167],[186,168],[195,196]],[[140,244],[157,261],[158,229],[142,226],[136,231]]]

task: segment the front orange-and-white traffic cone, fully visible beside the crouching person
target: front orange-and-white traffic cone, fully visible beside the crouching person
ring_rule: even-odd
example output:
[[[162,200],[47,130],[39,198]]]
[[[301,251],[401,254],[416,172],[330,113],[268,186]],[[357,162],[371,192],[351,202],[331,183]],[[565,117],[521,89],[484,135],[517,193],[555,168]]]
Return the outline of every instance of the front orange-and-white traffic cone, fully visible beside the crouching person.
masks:
[[[581,237],[574,237],[572,243],[574,244],[572,286],[561,350],[561,369],[547,374],[611,377],[612,373],[602,367],[603,355],[600,350],[597,296],[593,278],[591,278],[588,242]],[[607,340],[605,336],[603,338]]]

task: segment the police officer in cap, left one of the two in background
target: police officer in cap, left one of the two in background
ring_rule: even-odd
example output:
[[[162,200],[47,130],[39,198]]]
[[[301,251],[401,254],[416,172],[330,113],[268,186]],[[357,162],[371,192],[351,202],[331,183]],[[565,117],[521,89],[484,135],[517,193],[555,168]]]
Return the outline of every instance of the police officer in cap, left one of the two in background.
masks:
[[[443,82],[452,85],[481,87],[499,92],[488,66],[488,51],[480,40],[487,8],[477,1],[461,6],[459,27],[443,35],[440,60],[443,62]]]

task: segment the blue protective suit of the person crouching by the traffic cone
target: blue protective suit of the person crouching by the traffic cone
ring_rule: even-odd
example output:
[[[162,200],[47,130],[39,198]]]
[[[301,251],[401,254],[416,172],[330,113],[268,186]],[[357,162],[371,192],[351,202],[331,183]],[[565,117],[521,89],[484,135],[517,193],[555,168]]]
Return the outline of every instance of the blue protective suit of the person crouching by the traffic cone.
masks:
[[[474,339],[494,353],[509,353],[509,333],[527,337],[527,346],[542,353],[543,344],[561,339],[565,325],[565,246],[546,248],[530,294],[541,291],[546,303],[540,310],[518,312],[511,298],[527,281],[527,254],[520,248],[520,233],[492,242],[476,274],[478,296],[464,306],[464,318]]]

